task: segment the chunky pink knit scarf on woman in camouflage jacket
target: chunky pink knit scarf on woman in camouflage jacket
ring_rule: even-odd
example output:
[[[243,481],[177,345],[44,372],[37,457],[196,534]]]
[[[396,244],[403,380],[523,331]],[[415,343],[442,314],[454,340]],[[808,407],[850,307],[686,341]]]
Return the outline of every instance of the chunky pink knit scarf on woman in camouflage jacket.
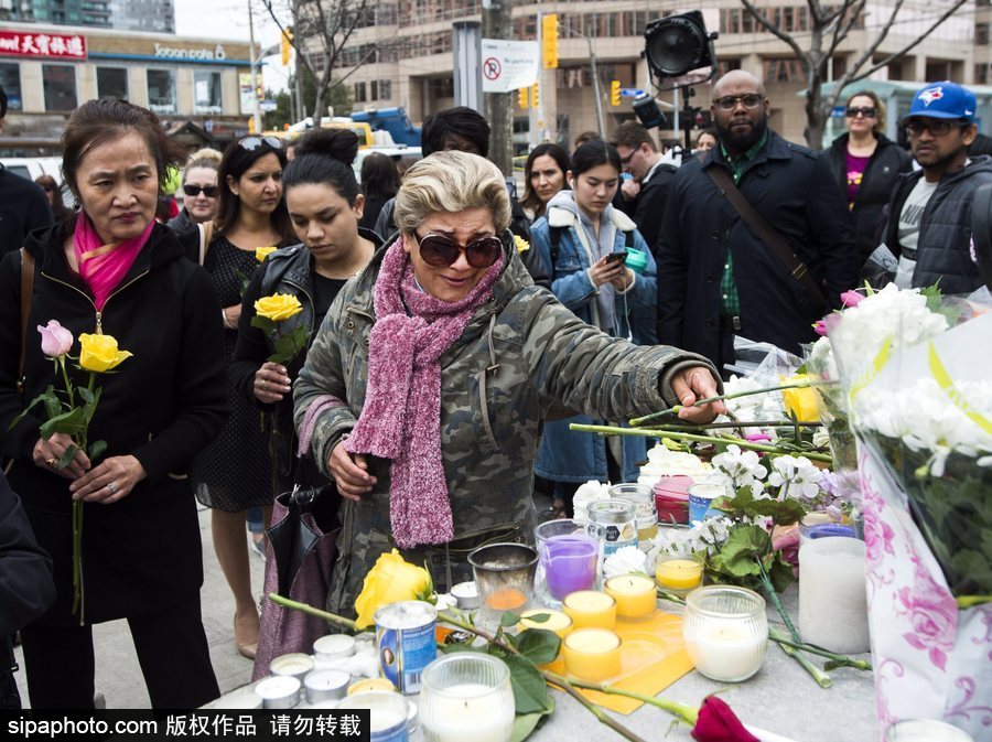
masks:
[[[392,460],[389,517],[402,548],[445,544],[454,536],[441,461],[439,359],[492,297],[502,269],[500,257],[464,299],[448,303],[417,286],[402,239],[382,258],[375,288],[376,324],[368,341],[365,407],[345,449]]]

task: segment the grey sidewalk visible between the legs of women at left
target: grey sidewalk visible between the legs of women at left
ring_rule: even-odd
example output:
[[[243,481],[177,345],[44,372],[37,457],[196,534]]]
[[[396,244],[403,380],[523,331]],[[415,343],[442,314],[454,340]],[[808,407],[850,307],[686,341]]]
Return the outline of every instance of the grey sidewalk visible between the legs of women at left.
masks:
[[[203,625],[211,645],[214,673],[223,693],[251,680],[252,663],[250,659],[241,657],[235,647],[234,598],[220,572],[217,557],[214,555],[214,542],[211,537],[211,512],[204,507],[200,508],[200,535],[203,540],[204,580],[200,591]],[[250,537],[246,529],[245,550],[249,552],[251,587],[258,595],[261,595],[265,562],[254,549],[250,549],[249,545]],[[104,695],[107,708],[151,708],[127,621],[111,621],[94,626],[93,641],[96,652],[96,690],[97,693]],[[169,642],[169,637],[163,636],[162,641]],[[24,677],[24,663],[20,647],[15,654],[18,664],[21,666],[15,674],[18,688],[21,691],[24,708],[28,708],[28,682]]]

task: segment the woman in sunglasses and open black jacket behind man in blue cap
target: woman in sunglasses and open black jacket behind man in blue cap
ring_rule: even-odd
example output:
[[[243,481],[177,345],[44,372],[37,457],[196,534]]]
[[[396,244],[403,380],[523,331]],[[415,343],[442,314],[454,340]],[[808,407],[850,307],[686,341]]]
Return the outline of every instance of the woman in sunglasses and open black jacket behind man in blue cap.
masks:
[[[830,165],[854,217],[859,265],[878,247],[882,211],[899,173],[913,170],[909,152],[886,138],[885,106],[871,90],[855,93],[844,108],[847,133],[833,140]]]

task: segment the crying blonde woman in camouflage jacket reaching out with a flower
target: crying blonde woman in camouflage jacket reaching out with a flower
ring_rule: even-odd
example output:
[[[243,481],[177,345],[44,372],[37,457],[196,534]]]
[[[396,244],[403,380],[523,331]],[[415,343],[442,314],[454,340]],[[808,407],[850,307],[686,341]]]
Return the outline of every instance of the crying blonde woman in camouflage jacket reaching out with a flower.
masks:
[[[700,356],[611,337],[535,287],[488,160],[421,160],[395,216],[399,238],[342,289],[293,387],[296,430],[345,498],[328,606],[346,614],[393,547],[444,592],[479,544],[532,540],[552,406],[617,419],[716,388]]]

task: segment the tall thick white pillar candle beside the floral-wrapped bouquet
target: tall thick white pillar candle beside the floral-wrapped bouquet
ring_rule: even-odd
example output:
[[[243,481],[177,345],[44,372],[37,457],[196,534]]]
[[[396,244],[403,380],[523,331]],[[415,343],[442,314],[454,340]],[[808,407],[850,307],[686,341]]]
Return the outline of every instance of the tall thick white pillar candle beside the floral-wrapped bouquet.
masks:
[[[799,632],[840,654],[871,648],[864,541],[826,537],[799,548]]]

